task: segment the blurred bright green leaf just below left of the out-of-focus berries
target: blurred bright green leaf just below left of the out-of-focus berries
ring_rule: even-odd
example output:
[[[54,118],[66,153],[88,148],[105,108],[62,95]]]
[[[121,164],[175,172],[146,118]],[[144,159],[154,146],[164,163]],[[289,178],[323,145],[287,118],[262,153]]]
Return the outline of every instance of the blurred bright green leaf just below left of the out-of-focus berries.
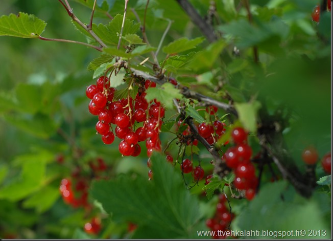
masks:
[[[35,208],[38,213],[43,213],[57,201],[60,193],[59,189],[52,186],[45,186],[38,190],[29,199],[23,202],[25,208]]]

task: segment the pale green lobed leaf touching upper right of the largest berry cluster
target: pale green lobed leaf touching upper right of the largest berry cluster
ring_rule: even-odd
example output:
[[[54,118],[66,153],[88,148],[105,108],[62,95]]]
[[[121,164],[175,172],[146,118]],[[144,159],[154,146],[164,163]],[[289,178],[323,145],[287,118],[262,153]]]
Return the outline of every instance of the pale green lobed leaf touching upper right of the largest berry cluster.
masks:
[[[164,83],[160,87],[149,88],[147,91],[145,99],[149,102],[151,100],[157,99],[166,108],[173,108],[173,99],[181,99],[182,95],[180,90],[175,89],[175,86],[171,83]]]

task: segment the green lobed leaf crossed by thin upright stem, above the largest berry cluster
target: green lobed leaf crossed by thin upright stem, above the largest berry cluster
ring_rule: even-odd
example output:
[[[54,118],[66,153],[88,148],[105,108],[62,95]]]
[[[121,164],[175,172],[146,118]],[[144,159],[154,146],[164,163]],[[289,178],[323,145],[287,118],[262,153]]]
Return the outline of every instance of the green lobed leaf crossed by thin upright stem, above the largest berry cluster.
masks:
[[[93,24],[92,30],[94,33],[96,33],[97,36],[101,38],[101,40],[106,45],[118,45],[119,40],[119,34],[122,29],[122,23],[123,23],[123,15],[117,14],[114,16],[114,18],[110,21],[108,25],[103,24]],[[126,19],[124,23],[124,29],[123,29],[123,36],[126,36],[127,34],[134,34],[139,29],[139,24],[133,24],[133,20]],[[125,40],[122,40],[121,46],[124,45]],[[116,55],[120,56],[120,55]]]

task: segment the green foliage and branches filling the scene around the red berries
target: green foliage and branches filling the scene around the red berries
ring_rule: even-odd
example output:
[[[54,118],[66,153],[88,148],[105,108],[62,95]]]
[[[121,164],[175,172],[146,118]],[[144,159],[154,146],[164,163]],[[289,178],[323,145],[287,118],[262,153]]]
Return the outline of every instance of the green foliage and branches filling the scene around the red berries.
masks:
[[[150,0],[147,10],[147,1],[129,1],[124,18],[125,1],[97,0],[89,26],[93,0],[68,1],[72,19],[65,1],[5,2],[1,238],[205,238],[197,231],[215,218],[219,193],[235,215],[231,230],[325,230],[316,238],[330,237],[331,179],[320,162],[331,146],[329,11],[316,23],[311,0],[182,1],[202,17],[198,24],[180,1]],[[118,138],[105,145],[96,135],[85,91],[100,76],[116,88],[113,100],[144,90],[147,103],[165,108],[161,151],[149,158],[152,180],[145,142],[137,157],[123,157]],[[146,79],[157,86],[146,90]],[[211,133],[208,143],[198,126],[217,120],[223,133]],[[260,179],[253,200],[235,188],[237,170],[223,157],[238,144],[235,127],[247,132]],[[318,152],[313,166],[302,161],[308,146]],[[203,179],[181,171],[185,158],[204,170]],[[74,200],[85,183],[85,204],[64,198],[65,178]],[[89,232],[94,217],[101,226]]]

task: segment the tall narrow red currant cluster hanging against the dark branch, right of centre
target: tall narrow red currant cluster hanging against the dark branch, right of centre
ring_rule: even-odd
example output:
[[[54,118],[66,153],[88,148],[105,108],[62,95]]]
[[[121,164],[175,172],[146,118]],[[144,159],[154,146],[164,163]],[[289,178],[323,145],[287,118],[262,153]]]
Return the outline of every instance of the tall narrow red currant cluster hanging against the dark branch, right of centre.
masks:
[[[248,134],[242,127],[232,129],[231,137],[236,146],[231,146],[222,156],[226,165],[234,170],[234,187],[239,190],[246,190],[245,196],[252,200],[258,185],[258,179],[255,176],[255,167],[250,162],[252,149],[247,144]]]

